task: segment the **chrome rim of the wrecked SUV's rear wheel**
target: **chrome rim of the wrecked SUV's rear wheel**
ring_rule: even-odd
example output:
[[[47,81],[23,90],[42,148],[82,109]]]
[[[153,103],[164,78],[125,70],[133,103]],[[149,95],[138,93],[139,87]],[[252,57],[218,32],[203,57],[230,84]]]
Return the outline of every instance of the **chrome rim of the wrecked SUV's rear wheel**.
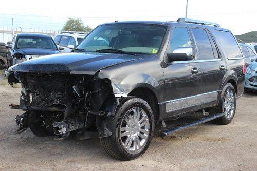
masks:
[[[222,109],[227,119],[231,119],[234,115],[235,97],[233,91],[228,88],[225,92]]]

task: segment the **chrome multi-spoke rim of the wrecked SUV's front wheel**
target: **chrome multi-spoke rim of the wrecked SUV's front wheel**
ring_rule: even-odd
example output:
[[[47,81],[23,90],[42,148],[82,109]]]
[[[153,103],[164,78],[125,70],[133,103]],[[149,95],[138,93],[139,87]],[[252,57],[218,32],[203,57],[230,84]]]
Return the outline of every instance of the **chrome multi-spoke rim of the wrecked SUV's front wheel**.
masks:
[[[149,133],[149,118],[142,108],[132,108],[124,115],[120,124],[119,139],[128,153],[139,153],[146,145]]]

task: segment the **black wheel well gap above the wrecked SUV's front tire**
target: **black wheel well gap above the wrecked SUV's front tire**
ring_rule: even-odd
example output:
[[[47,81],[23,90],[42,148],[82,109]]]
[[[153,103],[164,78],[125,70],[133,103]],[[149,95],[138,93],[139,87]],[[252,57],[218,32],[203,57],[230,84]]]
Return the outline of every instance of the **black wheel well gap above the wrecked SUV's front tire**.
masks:
[[[159,119],[158,100],[155,96],[155,93],[150,88],[146,88],[146,87],[135,88],[128,94],[128,96],[135,96],[148,102],[148,104],[151,106],[153,110],[155,123],[158,121]]]

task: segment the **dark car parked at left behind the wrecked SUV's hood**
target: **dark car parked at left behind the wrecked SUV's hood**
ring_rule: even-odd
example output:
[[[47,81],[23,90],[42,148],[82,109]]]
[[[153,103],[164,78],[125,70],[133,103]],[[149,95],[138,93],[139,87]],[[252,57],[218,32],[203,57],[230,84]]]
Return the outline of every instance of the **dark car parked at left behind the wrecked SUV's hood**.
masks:
[[[8,67],[41,56],[57,54],[62,50],[58,49],[50,35],[38,33],[16,34],[6,48]]]

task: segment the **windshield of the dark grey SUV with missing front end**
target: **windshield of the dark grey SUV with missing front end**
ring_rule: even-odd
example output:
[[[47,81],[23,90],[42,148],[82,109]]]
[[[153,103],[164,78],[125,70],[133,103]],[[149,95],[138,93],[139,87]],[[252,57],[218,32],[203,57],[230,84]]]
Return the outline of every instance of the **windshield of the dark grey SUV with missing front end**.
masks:
[[[119,49],[125,52],[156,54],[166,26],[150,24],[110,24],[97,27],[77,47],[89,52]],[[102,51],[104,52],[104,51]]]

